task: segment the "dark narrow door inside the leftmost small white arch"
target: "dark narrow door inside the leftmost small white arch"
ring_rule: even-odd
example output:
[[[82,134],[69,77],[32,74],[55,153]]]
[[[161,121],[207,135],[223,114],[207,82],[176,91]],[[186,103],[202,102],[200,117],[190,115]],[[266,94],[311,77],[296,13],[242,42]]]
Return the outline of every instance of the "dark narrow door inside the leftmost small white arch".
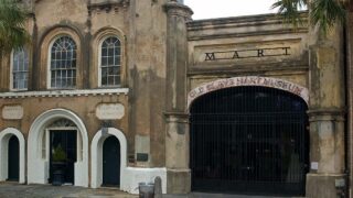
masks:
[[[8,180],[19,182],[20,178],[20,143],[15,135],[9,140]]]

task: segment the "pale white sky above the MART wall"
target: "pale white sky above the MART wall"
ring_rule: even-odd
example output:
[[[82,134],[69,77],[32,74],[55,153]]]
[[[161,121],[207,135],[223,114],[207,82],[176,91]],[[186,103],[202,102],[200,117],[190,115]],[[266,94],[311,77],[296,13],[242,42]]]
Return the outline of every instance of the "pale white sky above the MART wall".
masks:
[[[270,7],[276,0],[184,0],[194,14],[192,19],[227,18],[274,13]]]

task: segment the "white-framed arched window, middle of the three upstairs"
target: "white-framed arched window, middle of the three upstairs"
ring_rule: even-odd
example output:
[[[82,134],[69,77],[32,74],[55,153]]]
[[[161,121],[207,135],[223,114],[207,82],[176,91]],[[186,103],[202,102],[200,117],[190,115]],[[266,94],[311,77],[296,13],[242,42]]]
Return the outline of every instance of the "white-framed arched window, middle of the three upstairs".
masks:
[[[76,44],[69,36],[58,37],[51,48],[51,88],[76,86]]]

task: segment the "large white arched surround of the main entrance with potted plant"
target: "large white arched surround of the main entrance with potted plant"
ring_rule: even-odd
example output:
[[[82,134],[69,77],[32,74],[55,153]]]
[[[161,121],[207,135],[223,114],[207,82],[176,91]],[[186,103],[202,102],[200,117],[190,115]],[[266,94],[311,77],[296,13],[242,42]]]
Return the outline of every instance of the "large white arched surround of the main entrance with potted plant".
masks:
[[[53,123],[68,120],[75,127],[69,129]],[[64,123],[65,124],[65,123]],[[73,112],[65,109],[49,110],[39,116],[31,125],[29,133],[29,184],[47,184],[50,178],[50,136],[53,130],[77,131],[77,160],[74,163],[74,185],[88,187],[88,135],[83,121]]]

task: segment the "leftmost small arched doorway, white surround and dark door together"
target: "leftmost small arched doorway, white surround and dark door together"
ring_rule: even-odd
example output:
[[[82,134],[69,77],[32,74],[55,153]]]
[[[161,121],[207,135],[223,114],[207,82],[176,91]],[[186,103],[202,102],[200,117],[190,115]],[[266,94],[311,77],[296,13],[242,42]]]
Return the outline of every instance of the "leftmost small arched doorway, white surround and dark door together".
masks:
[[[25,183],[25,141],[13,128],[0,132],[0,182]]]

